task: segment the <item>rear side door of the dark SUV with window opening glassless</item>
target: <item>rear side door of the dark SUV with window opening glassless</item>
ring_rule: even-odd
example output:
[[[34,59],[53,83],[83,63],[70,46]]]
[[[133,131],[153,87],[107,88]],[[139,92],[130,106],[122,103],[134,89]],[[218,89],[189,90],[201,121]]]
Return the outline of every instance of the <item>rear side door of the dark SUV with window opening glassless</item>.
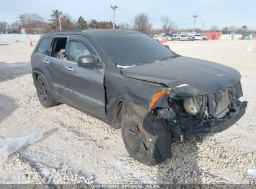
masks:
[[[52,93],[55,98],[64,100],[65,99],[65,59],[60,59],[55,56],[54,48],[56,41],[61,39],[63,41],[63,47],[65,50],[65,44],[67,37],[52,37],[52,44],[50,46],[49,56],[44,56],[42,59],[41,69],[44,72],[47,83],[50,85]]]

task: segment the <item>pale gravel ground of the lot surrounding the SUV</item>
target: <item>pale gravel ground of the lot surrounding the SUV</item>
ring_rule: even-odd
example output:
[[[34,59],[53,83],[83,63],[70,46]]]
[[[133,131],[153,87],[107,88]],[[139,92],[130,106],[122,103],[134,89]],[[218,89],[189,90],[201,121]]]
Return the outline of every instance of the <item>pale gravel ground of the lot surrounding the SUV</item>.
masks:
[[[43,108],[30,74],[28,42],[0,43],[0,139],[43,131],[0,167],[0,183],[256,184],[256,40],[168,42],[180,55],[234,67],[242,75],[245,116],[203,144],[172,144],[173,159],[148,167],[125,150],[120,131],[65,104]]]

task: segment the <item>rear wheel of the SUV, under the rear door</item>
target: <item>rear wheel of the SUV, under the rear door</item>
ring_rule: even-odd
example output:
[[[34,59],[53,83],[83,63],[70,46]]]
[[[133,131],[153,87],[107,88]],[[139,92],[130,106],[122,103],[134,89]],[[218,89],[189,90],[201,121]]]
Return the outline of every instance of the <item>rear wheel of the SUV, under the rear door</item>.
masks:
[[[49,108],[52,106],[57,106],[59,103],[55,101],[54,96],[49,90],[49,86],[47,85],[46,81],[42,76],[38,76],[36,81],[36,90],[37,90],[37,97],[42,104],[42,106]]]

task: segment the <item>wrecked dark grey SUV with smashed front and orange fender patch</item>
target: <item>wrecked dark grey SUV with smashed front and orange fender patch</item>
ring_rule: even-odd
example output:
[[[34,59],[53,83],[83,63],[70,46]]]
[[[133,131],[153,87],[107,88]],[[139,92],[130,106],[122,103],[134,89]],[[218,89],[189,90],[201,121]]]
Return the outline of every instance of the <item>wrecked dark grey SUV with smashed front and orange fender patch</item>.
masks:
[[[46,34],[31,63],[42,106],[69,104],[121,128],[128,153],[146,165],[171,158],[172,139],[227,129],[247,106],[234,68],[179,56],[132,30]]]

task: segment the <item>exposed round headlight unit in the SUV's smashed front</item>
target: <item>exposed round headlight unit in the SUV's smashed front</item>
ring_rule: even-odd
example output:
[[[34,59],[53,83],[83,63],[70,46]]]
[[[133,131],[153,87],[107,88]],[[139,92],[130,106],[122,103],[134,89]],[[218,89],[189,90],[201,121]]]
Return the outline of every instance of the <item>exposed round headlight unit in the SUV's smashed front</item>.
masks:
[[[202,109],[202,96],[194,96],[184,99],[183,106],[188,114],[196,116]]]

